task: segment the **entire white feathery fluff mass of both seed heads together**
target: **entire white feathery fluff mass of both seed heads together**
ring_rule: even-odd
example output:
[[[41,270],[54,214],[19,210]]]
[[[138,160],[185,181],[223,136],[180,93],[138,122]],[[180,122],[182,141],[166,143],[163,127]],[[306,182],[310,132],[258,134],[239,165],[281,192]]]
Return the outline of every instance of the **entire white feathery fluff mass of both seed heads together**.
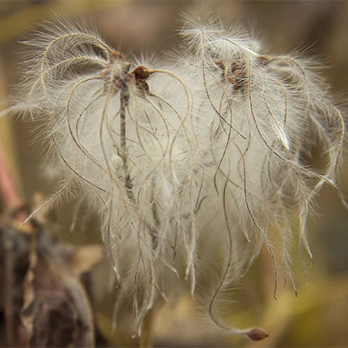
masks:
[[[189,278],[193,294],[197,271],[214,260],[208,312],[225,327],[214,303],[262,246],[275,283],[283,267],[295,288],[290,245],[310,254],[310,203],[324,182],[335,187],[345,139],[312,61],[266,54],[215,22],[188,22],[181,35],[176,62],[150,67],[61,22],[26,42],[33,56],[13,106],[40,120],[61,168],[49,203],[74,195],[100,212],[118,299],[131,294],[139,328],[169,274]]]

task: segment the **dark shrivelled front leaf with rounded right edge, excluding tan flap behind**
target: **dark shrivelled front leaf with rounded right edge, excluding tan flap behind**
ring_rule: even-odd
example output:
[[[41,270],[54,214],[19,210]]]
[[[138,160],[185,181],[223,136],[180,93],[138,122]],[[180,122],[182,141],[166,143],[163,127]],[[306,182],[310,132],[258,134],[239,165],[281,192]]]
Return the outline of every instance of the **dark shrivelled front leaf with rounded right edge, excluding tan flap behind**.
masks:
[[[24,279],[22,320],[31,347],[93,347],[94,324],[86,290],[53,258],[31,255]]]

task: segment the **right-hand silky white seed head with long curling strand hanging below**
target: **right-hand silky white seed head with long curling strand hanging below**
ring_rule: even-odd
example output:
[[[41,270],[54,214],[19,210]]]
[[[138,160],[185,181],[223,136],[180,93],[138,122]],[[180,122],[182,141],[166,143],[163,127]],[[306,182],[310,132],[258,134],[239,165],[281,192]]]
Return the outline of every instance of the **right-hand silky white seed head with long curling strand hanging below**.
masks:
[[[225,327],[215,319],[212,305],[244,274],[261,246],[274,264],[274,296],[280,267],[296,292],[290,246],[299,242],[306,274],[303,251],[312,258],[306,219],[325,182],[337,189],[345,122],[314,61],[269,55],[245,31],[228,30],[216,19],[187,19],[181,34],[190,57],[182,60],[183,69],[195,70],[196,93],[207,101],[197,112],[209,113],[212,120],[210,180],[225,219],[213,214],[225,228],[209,232],[225,230],[229,248],[209,315]],[[313,145],[322,146],[321,168],[308,158]],[[215,205],[214,198],[209,203]],[[248,257],[236,262],[238,251]]]

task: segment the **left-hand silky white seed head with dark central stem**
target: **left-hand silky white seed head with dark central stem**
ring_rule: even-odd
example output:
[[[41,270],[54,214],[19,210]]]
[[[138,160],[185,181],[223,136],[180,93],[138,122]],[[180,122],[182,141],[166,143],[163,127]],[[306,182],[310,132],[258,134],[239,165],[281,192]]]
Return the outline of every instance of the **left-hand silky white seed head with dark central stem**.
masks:
[[[203,159],[191,92],[170,69],[128,61],[65,22],[26,43],[34,54],[17,107],[42,122],[64,179],[45,205],[77,191],[100,212],[118,299],[132,296],[140,333],[161,278],[177,274],[177,249],[192,293],[196,283]]]

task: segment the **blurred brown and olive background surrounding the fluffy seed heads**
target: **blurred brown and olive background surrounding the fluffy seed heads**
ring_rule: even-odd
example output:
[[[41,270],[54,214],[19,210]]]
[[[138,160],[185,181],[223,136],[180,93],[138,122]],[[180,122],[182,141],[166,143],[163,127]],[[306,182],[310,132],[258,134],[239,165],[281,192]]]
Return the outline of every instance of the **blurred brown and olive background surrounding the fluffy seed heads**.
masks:
[[[294,52],[308,47],[308,54],[324,61],[324,77],[334,95],[345,102],[348,93],[348,2],[347,1],[0,1],[0,100],[20,79],[19,42],[38,25],[55,15],[91,22],[111,46],[126,54],[155,54],[175,48],[182,13],[213,11],[231,24],[243,24],[269,47],[271,53]],[[6,104],[1,104],[4,109]],[[40,165],[42,151],[33,144],[32,125],[19,118],[0,119],[0,146],[6,166],[22,202],[31,204],[40,192],[54,191],[54,180]],[[347,174],[342,173],[348,193]],[[0,197],[1,214],[8,214],[6,200]],[[58,207],[45,218],[45,228],[56,243],[68,245],[73,255],[93,245],[95,249],[81,259],[88,281],[88,306],[93,313],[96,345],[136,347],[129,308],[121,310],[119,325],[112,330],[116,294],[110,282],[111,271],[97,245],[101,243],[93,217],[78,223],[72,233],[72,207]],[[289,285],[280,287],[273,298],[273,278],[269,258],[261,254],[245,279],[235,290],[226,308],[226,322],[241,326],[261,326],[267,340],[250,342],[244,338],[210,333],[200,323],[196,303],[185,291],[155,311],[152,340],[155,347],[348,347],[348,214],[333,189],[324,186],[317,197],[317,216],[308,222],[313,266],[308,264],[308,280],[303,276],[299,246],[294,245],[298,296]],[[50,223],[47,223],[49,219]],[[3,220],[3,219],[2,219]],[[6,223],[0,219],[0,230]],[[54,221],[54,223],[52,223]],[[0,248],[5,260],[6,248]],[[70,250],[70,249],[69,249]],[[76,251],[76,253],[75,253]],[[28,251],[26,251],[28,253]],[[93,254],[94,253],[94,254]],[[93,255],[94,256],[93,256]],[[80,254],[79,254],[80,255]],[[91,262],[91,258],[93,262]],[[2,260],[2,259],[1,259]],[[7,263],[6,263],[7,262]],[[19,261],[18,261],[19,262]],[[24,262],[25,263],[25,262]],[[1,261],[6,267],[8,261]],[[74,264],[74,267],[76,264]],[[77,266],[76,266],[77,267]],[[0,270],[0,285],[5,289],[6,271]],[[2,278],[1,278],[2,277]],[[20,278],[20,277],[19,277]],[[18,280],[22,286],[23,277]],[[17,280],[16,280],[17,281]],[[13,286],[16,281],[13,280]],[[79,280],[80,281],[80,280]],[[1,283],[2,282],[2,283]],[[1,290],[0,290],[1,291]],[[10,291],[10,290],[8,290]],[[18,290],[18,305],[23,301]],[[25,292],[25,289],[24,289]],[[0,346],[20,346],[17,329],[8,331],[11,317],[6,299],[0,292]],[[22,296],[22,297],[21,297]],[[127,306],[125,306],[127,307]],[[128,310],[127,310],[128,309]],[[15,310],[12,309],[13,313]],[[13,314],[15,315],[15,314]],[[20,325],[19,323],[17,323]],[[21,331],[22,332],[22,331]],[[19,334],[18,334],[19,335]],[[11,337],[12,336],[12,337]]]

